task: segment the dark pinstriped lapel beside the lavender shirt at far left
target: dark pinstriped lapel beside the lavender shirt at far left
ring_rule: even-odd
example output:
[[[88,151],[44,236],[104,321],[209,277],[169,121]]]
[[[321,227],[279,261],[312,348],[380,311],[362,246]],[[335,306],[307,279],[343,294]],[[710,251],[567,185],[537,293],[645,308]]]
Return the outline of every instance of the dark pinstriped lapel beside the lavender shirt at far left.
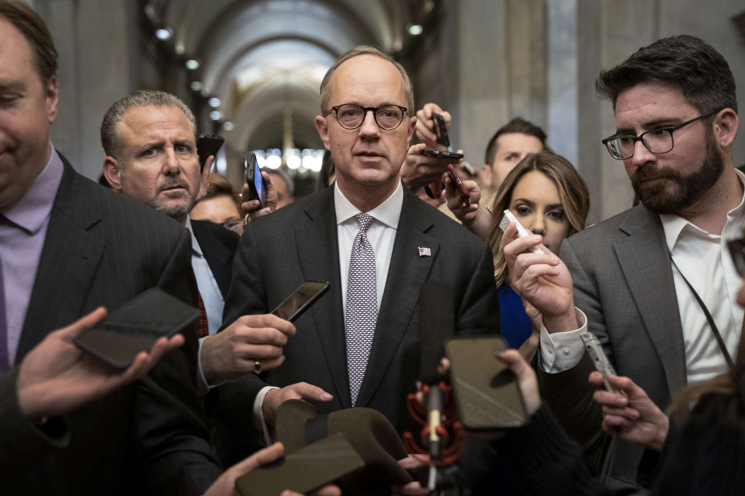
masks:
[[[63,162],[65,171],[54,199],[16,363],[48,332],[80,317],[104,254],[104,242],[88,232],[101,220],[98,208],[81,201],[90,198],[86,184],[64,158]]]

